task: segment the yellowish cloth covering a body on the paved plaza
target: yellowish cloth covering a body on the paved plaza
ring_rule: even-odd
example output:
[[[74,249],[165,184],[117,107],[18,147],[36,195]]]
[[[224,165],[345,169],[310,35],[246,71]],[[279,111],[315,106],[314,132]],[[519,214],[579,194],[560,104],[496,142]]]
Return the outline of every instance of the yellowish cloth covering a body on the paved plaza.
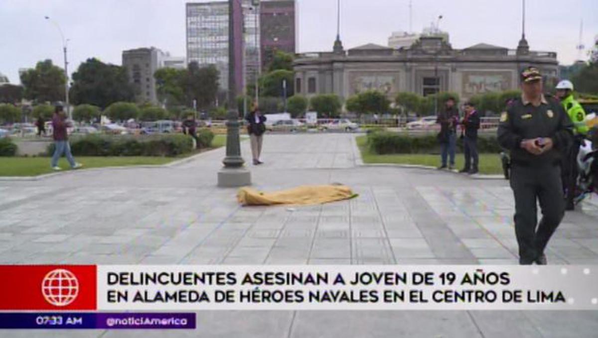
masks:
[[[237,200],[244,206],[273,204],[321,204],[355,197],[346,185],[301,185],[288,190],[264,193],[252,188],[240,188]]]

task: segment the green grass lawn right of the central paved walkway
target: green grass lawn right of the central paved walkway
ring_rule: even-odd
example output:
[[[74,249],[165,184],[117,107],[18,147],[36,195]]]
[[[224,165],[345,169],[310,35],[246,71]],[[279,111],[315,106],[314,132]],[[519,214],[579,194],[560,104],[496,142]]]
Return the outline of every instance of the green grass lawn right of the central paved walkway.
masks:
[[[392,163],[401,165],[440,166],[440,155],[433,154],[387,154],[372,153],[367,148],[367,136],[357,137],[357,145],[361,150],[364,163]],[[463,154],[455,156],[456,169],[462,169]],[[480,154],[480,173],[502,174],[501,159],[498,154]]]

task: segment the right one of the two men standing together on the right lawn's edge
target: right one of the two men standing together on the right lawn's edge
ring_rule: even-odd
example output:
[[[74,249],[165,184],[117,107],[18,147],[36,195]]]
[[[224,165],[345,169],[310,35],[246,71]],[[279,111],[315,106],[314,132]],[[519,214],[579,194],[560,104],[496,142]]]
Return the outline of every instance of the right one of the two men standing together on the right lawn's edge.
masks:
[[[478,129],[480,129],[480,115],[473,103],[465,103],[465,116],[461,122],[463,137],[463,153],[465,154],[465,167],[459,172],[470,175],[478,172]],[[473,164],[472,164],[473,162]]]

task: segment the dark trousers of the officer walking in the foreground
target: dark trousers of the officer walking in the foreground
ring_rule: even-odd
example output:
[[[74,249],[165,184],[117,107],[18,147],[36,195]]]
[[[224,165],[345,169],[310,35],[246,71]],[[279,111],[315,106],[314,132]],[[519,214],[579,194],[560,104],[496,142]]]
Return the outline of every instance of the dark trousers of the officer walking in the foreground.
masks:
[[[558,165],[511,166],[511,188],[515,196],[515,235],[519,262],[531,264],[544,249],[565,213]],[[536,200],[542,210],[538,225]],[[536,230],[537,225],[537,230]]]

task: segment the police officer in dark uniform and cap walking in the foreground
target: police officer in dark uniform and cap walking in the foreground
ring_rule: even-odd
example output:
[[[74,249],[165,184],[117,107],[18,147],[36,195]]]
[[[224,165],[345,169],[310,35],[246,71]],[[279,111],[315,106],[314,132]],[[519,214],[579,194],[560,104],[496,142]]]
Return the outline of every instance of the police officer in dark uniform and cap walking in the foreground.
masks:
[[[544,249],[565,214],[559,164],[573,125],[563,106],[542,94],[542,75],[535,67],[521,72],[521,91],[501,115],[498,141],[511,152],[519,263],[544,265]],[[539,225],[536,200],[542,210]]]

